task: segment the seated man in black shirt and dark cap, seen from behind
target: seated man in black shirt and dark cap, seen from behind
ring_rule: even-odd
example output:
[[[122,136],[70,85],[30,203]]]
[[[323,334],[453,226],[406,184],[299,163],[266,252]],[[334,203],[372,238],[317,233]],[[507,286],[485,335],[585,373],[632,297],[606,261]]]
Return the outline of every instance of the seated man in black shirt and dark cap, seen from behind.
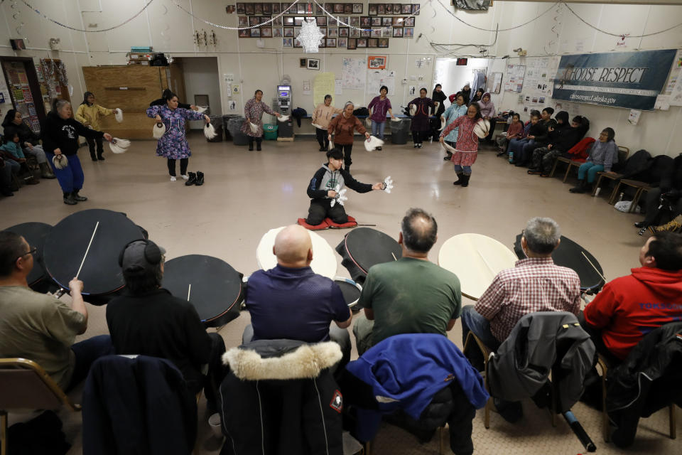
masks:
[[[217,412],[225,343],[218,333],[206,332],[190,302],[161,287],[165,254],[151,240],[135,240],[121,252],[126,288],[107,305],[114,351],[171,360],[183,373],[188,393],[196,395],[203,388],[209,410]]]

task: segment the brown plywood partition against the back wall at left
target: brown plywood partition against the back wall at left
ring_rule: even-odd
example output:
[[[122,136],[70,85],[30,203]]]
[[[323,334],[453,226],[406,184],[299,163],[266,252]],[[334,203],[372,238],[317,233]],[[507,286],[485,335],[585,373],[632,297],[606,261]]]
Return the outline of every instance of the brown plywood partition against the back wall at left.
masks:
[[[168,70],[168,67],[142,65],[83,67],[85,85],[94,93],[97,103],[108,109],[123,109],[123,123],[110,115],[104,118],[102,129],[124,139],[152,139],[153,119],[148,118],[145,111],[168,87],[168,74],[171,73]],[[177,71],[172,70],[173,73]]]

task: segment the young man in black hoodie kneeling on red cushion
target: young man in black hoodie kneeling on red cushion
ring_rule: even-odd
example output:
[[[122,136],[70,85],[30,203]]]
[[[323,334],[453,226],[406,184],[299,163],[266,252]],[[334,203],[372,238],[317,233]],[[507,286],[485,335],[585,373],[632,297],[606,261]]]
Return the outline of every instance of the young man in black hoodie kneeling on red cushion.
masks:
[[[328,151],[327,159],[328,163],[315,172],[308,185],[308,197],[312,200],[310,200],[308,218],[305,223],[313,226],[319,225],[327,217],[337,224],[348,222],[348,215],[343,205],[335,203],[332,206],[332,200],[337,197],[337,191],[340,191],[344,185],[358,193],[384,189],[384,183],[379,182],[374,185],[360,183],[350,175],[350,172],[342,169],[343,153],[339,149]]]

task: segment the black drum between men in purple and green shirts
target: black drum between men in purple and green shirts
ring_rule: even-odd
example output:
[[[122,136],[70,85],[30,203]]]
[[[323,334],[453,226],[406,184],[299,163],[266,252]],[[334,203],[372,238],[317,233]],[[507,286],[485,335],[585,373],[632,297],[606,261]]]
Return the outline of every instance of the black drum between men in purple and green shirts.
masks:
[[[348,232],[336,251],[343,258],[352,279],[360,284],[367,278],[367,272],[376,264],[400,259],[403,250],[393,237],[372,228],[355,228]]]

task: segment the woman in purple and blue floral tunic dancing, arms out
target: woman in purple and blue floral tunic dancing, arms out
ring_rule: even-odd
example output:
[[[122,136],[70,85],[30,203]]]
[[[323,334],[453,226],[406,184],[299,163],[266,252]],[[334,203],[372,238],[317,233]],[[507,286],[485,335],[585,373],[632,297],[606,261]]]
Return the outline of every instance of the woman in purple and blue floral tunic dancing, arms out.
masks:
[[[201,120],[207,124],[211,122],[210,117],[200,114],[193,110],[178,107],[178,95],[173,92],[164,92],[166,105],[153,105],[147,108],[147,117],[156,119],[156,122],[163,123],[166,132],[156,144],[156,156],[163,156],[168,159],[168,173],[171,181],[175,178],[175,160],[180,160],[180,176],[189,180],[187,166],[190,163],[190,144],[185,137],[185,120]]]

